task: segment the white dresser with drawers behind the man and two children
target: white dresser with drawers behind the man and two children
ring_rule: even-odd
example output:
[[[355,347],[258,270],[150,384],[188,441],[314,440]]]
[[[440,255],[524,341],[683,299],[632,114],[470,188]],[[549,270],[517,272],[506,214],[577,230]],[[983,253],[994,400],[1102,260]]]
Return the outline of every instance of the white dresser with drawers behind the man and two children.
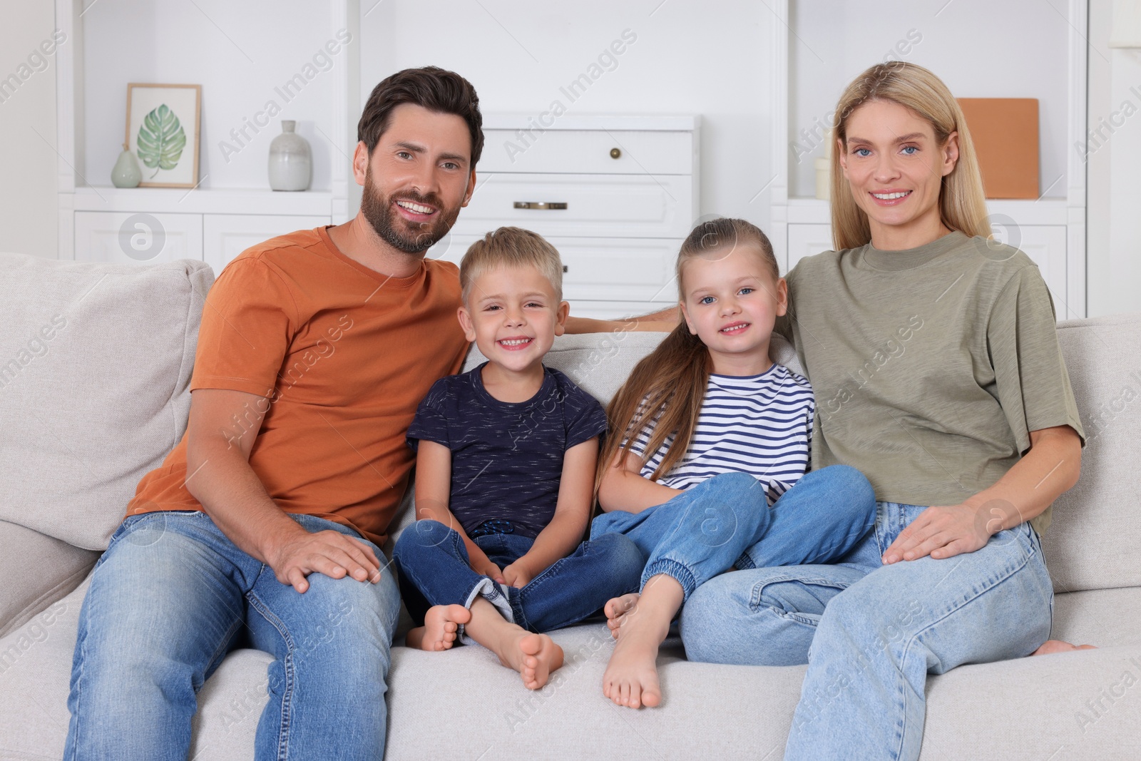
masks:
[[[471,203],[428,256],[459,262],[487,232],[515,225],[559,250],[573,315],[677,302],[673,262],[697,219],[699,118],[547,120],[485,115]]]

